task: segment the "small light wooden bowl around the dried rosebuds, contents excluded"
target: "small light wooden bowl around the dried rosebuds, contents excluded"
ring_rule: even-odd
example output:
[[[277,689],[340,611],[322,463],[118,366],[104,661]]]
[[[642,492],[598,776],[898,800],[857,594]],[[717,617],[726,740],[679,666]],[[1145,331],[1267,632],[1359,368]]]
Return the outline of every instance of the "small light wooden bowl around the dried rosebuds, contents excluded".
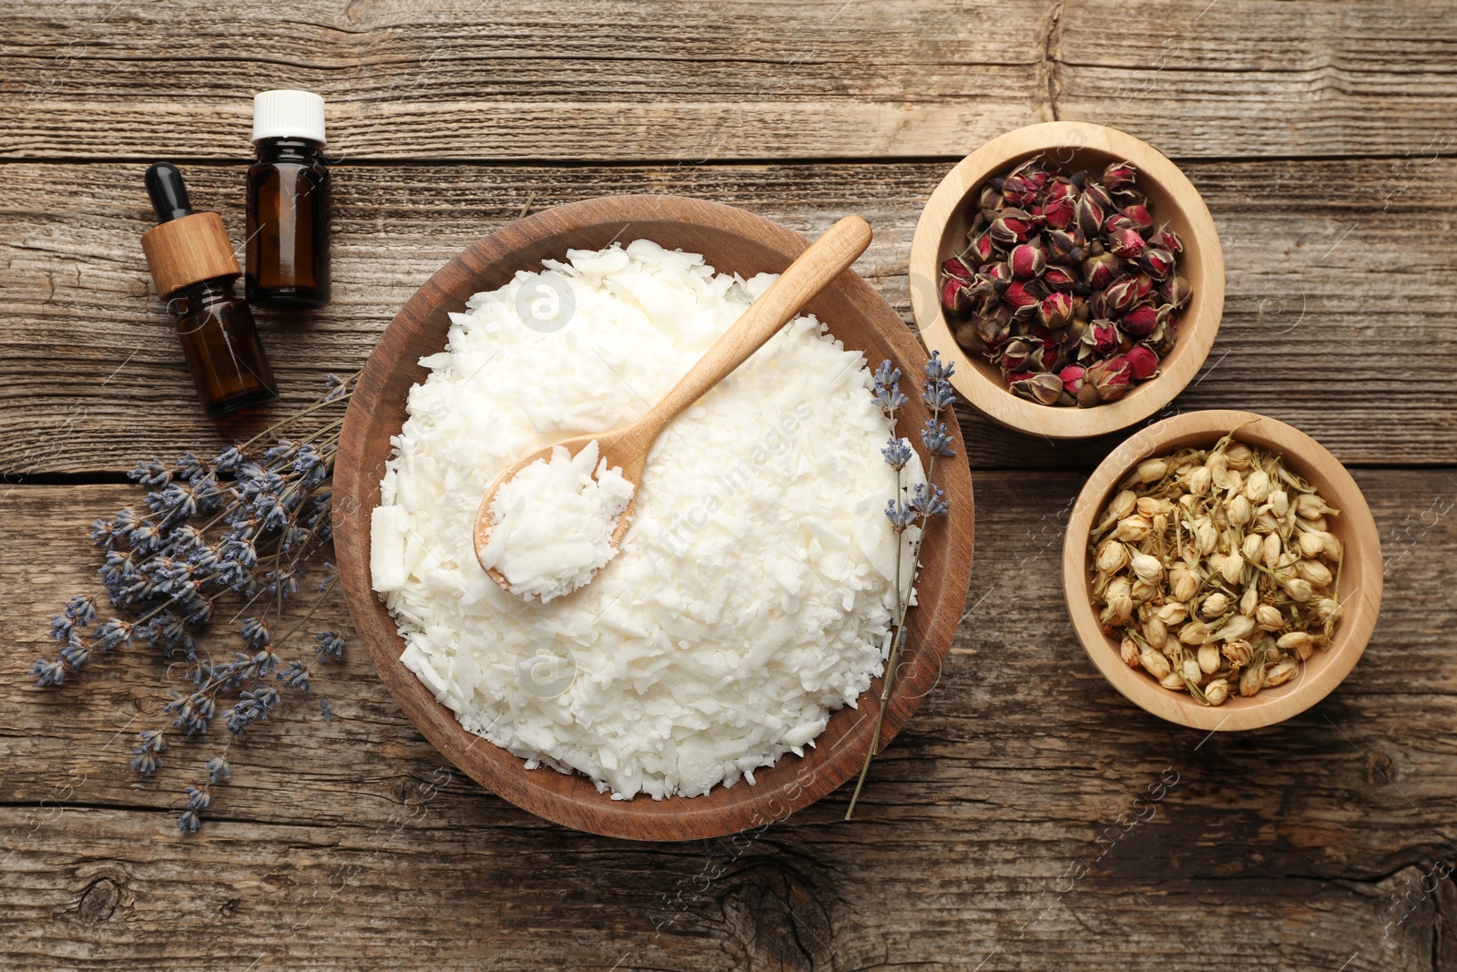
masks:
[[[1039,405],[1007,391],[1001,372],[981,354],[969,354],[951,337],[941,312],[941,264],[966,246],[967,197],[994,175],[1048,156],[1068,172],[1101,172],[1109,162],[1132,162],[1138,185],[1148,194],[1155,223],[1167,223],[1183,240],[1179,275],[1193,297],[1179,318],[1174,348],[1160,373],[1136,382],[1116,402],[1094,408]],[[956,361],[956,389],[992,420],[1048,439],[1087,439],[1139,423],[1173,401],[1199,373],[1224,312],[1224,251],[1220,233],[1198,189],[1173,162],[1138,138],[1075,121],[1027,125],[992,138],[962,159],[921,211],[911,243],[911,309],[927,347]]]

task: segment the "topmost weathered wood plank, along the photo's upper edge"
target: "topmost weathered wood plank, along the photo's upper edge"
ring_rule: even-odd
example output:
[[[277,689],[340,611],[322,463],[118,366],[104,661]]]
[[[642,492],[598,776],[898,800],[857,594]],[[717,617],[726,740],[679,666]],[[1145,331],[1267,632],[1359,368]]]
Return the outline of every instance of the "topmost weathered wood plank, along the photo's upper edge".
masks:
[[[1005,4],[140,0],[0,9],[0,156],[248,153],[249,98],[331,101],[372,159],[959,156],[1055,117],[1180,157],[1453,149],[1457,12]],[[166,134],[160,134],[166,133]],[[160,141],[159,141],[160,138]]]

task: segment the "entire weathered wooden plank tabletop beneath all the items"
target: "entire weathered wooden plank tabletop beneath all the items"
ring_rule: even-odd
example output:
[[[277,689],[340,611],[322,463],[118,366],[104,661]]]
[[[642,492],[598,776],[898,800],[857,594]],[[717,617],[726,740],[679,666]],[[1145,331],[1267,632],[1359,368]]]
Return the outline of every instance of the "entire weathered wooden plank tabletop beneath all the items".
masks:
[[[7,969],[1457,969],[1457,10],[1416,0],[0,6],[0,930]],[[1227,248],[1174,407],[1249,408],[1352,466],[1386,605],[1354,675],[1272,729],[1145,716],[1072,638],[1062,520],[1110,442],[963,415],[972,592],[938,688],[848,793],[753,839],[571,832],[453,772],[361,651],[233,750],[127,768],[165,662],[32,688],[96,593],[92,519],[137,459],[217,449],[141,258],[144,163],[240,239],[251,96],[329,101],[335,299],[259,315],[286,405],[351,372],[471,240],[615,192],[876,227],[906,254],[951,163],[1039,119],[1174,157]],[[347,625],[338,602],[323,621]],[[233,640],[219,632],[219,644]],[[219,727],[220,729],[220,727]],[[122,732],[124,730],[124,732]],[[119,733],[119,734],[118,734]],[[1155,794],[1147,822],[1129,816]],[[205,960],[198,960],[200,957]]]

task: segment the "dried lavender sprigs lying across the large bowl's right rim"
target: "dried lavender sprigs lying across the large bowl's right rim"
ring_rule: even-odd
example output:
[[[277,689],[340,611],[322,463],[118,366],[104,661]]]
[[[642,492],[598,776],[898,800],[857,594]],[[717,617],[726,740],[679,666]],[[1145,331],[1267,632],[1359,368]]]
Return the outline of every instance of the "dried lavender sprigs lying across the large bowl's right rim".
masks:
[[[892,450],[887,446],[883,452],[886,462],[896,469],[896,494],[898,498],[890,500],[886,506],[886,517],[890,520],[890,526],[896,533],[896,618],[892,627],[890,638],[890,653],[886,657],[886,676],[880,688],[880,710],[876,713],[876,724],[870,733],[870,748],[865,749],[865,761],[860,767],[860,778],[855,780],[855,790],[849,796],[849,806],[845,807],[845,819],[851,819],[855,813],[855,804],[860,801],[860,793],[865,785],[865,777],[870,774],[870,762],[876,758],[876,749],[880,746],[880,732],[886,721],[886,707],[890,704],[890,692],[895,689],[896,666],[900,662],[900,648],[906,638],[906,611],[909,605],[906,603],[906,596],[900,583],[900,561],[903,558],[903,551],[900,545],[900,533],[909,529],[912,525],[921,528],[921,535],[911,545],[911,583],[915,583],[915,576],[921,567],[921,546],[925,542],[925,530],[930,525],[931,517],[946,516],[950,512],[950,503],[946,500],[946,494],[940,487],[935,485],[932,477],[935,475],[935,459],[937,456],[951,458],[956,450],[951,447],[951,436],[947,431],[946,424],[943,424],[941,415],[951,414],[951,407],[956,404],[956,393],[951,391],[950,377],[956,370],[953,361],[943,361],[940,351],[931,353],[931,360],[925,364],[925,383],[922,385],[922,401],[931,409],[931,418],[921,428],[921,444],[925,446],[930,458],[925,465],[925,482],[918,482],[915,491],[909,500],[900,498],[905,488],[900,485],[900,471],[905,463],[909,462],[911,456],[903,455],[899,449]],[[881,389],[886,385],[893,388],[896,379],[900,373],[895,372],[895,379],[883,382],[881,376],[890,377],[892,369],[890,361],[883,361],[880,369],[876,372],[876,401],[881,401]],[[899,395],[899,389],[893,388],[893,395],[886,398],[893,398]],[[900,402],[905,404],[905,396],[900,396]],[[884,402],[881,401],[881,408]],[[887,408],[886,414],[895,421],[895,409]],[[892,443],[905,442],[892,439]],[[903,458],[902,458],[903,456]],[[899,460],[896,465],[893,460]]]

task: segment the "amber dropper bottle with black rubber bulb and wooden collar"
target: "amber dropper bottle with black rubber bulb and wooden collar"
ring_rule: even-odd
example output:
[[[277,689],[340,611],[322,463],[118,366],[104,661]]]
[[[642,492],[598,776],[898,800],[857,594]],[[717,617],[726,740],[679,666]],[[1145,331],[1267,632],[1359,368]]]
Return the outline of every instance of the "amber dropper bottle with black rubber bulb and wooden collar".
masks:
[[[157,293],[176,322],[197,396],[219,418],[278,396],[248,303],[233,293],[242,270],[217,213],[194,213],[170,162],[147,169],[157,226],[141,235]]]

